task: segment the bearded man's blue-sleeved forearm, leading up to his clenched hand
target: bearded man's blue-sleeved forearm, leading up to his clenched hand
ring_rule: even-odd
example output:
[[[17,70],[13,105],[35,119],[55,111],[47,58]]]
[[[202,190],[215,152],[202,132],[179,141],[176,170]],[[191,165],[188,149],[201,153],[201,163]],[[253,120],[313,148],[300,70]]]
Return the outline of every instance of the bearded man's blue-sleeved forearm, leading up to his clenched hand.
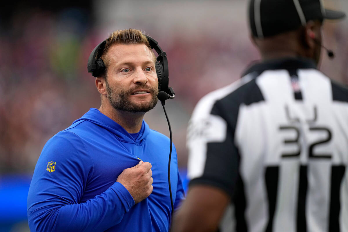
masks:
[[[129,192],[118,182],[93,199],[62,205],[58,201],[28,215],[31,231],[104,231],[118,224],[134,205]]]

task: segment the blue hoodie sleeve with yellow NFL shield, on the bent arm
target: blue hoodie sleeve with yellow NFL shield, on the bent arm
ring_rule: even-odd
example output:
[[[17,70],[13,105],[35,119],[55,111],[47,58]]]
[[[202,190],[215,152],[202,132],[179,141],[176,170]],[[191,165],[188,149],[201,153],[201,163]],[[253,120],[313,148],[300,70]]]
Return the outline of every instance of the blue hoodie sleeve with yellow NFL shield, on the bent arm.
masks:
[[[31,231],[104,231],[118,224],[134,205],[132,195],[115,182],[106,191],[80,202],[93,161],[81,139],[71,132],[51,138],[41,152],[27,199]]]

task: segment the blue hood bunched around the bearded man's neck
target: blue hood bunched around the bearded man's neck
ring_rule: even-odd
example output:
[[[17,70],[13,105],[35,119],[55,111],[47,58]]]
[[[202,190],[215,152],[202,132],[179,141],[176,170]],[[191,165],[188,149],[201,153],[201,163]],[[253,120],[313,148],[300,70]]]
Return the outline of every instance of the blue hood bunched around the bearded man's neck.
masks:
[[[101,113],[98,109],[90,108],[81,118],[75,120],[72,124],[87,120],[92,122],[114,134],[117,139],[126,143],[134,143],[142,145],[145,142],[146,136],[149,134],[149,125],[143,120],[138,136],[134,139],[123,127],[117,122]]]

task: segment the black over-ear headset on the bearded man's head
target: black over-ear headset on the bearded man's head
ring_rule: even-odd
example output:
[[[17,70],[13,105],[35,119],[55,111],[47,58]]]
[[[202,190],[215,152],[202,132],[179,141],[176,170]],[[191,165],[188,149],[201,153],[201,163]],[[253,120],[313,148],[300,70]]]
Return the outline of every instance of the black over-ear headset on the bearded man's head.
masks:
[[[168,98],[174,98],[174,90],[172,87],[168,87],[169,78],[168,78],[168,60],[167,54],[165,51],[161,49],[158,45],[158,42],[148,35],[145,35],[148,39],[151,49],[155,49],[158,54],[156,59],[156,73],[158,78],[158,89],[159,91],[164,91],[168,94]],[[99,43],[92,51],[92,53],[88,57],[87,70],[92,73],[93,77],[99,77],[105,71],[105,64],[102,58],[96,59],[97,54],[101,56],[104,48],[105,48],[106,40]]]

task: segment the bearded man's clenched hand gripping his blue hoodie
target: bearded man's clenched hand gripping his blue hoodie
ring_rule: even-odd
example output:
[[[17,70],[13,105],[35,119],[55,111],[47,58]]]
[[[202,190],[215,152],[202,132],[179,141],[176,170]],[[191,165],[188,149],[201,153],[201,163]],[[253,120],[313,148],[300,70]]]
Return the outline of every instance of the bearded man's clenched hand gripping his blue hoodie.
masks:
[[[151,167],[151,163],[140,161],[136,166],[123,170],[117,177],[116,181],[126,187],[135,203],[139,203],[152,193]]]

